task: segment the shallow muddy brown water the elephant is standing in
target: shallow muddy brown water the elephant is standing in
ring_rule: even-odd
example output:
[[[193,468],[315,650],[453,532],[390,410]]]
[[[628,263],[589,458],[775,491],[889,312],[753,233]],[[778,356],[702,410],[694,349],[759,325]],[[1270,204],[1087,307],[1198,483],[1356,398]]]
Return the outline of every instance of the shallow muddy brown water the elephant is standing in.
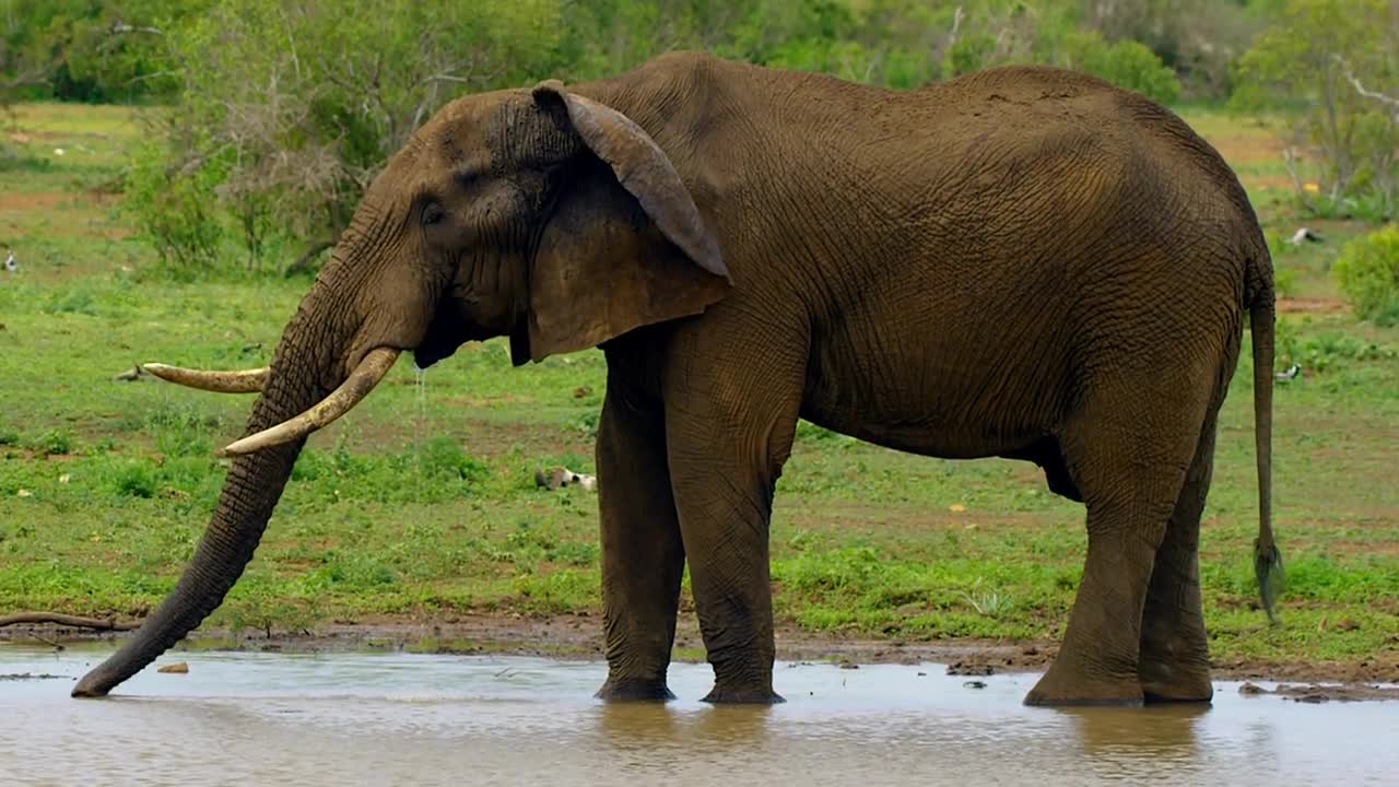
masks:
[[[1049,710],[1034,675],[779,665],[772,709],[592,699],[600,664],[519,657],[180,654],[71,700],[104,653],[0,644],[6,784],[1399,784],[1399,703],[1242,697]],[[166,657],[161,664],[173,661]]]

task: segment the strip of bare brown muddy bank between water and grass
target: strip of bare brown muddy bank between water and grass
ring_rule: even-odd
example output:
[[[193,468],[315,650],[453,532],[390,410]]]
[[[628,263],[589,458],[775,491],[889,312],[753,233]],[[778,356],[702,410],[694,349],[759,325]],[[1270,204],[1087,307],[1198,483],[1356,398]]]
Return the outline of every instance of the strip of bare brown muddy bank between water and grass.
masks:
[[[116,641],[123,632],[91,632],[55,625],[10,626],[0,640],[64,643]],[[1059,651],[1052,640],[936,640],[859,639],[814,634],[793,627],[778,630],[778,658],[860,664],[946,664],[950,675],[997,675],[1044,669]],[[231,632],[203,629],[175,650],[248,650],[284,653],[413,651],[498,653],[565,660],[603,658],[602,620],[586,615],[530,618],[519,615],[453,615],[443,620],[402,618],[341,620],[301,632]],[[681,619],[676,632],[676,661],[704,661],[704,643],[694,619]],[[1399,683],[1399,650],[1357,661],[1216,660],[1220,679],[1337,683],[1364,695],[1374,683]],[[1315,686],[1307,686],[1315,688]],[[1305,692],[1304,692],[1305,693]],[[1357,696],[1358,696],[1357,695]],[[1399,699],[1396,695],[1389,695]]]

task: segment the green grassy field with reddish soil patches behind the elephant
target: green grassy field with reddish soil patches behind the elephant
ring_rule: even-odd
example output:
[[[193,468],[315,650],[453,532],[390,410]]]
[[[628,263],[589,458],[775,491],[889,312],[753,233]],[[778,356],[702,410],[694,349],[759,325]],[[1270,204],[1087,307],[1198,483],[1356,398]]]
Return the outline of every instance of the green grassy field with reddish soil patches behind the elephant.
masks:
[[[1223,415],[1202,534],[1213,653],[1356,662],[1399,650],[1399,329],[1358,323],[1329,277],[1363,231],[1297,227],[1265,123],[1188,112],[1265,218],[1286,300],[1276,395],[1283,625],[1255,602],[1249,358]],[[108,193],[140,133],[120,108],[29,105],[4,129],[0,245],[0,613],[140,616],[200,536],[250,399],[113,375],[137,361],[260,365],[306,280],[178,283]],[[63,150],[59,155],[57,150]],[[1247,349],[1247,342],[1245,342]],[[593,493],[539,490],[539,465],[592,471],[597,351],[512,370],[499,342],[422,379],[402,361],[313,437],[262,548],[206,630],[449,620],[597,608]],[[1083,566],[1083,510],[1028,464],[902,455],[803,423],[772,529],[775,604],[807,634],[1058,637]],[[687,605],[688,609],[688,605]]]

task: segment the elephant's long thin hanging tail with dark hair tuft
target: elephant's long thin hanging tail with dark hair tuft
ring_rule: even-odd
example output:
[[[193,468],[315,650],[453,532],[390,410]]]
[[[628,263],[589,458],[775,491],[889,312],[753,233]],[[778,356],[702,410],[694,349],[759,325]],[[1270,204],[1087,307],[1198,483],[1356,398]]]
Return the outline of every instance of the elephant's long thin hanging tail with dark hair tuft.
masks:
[[[1266,246],[1265,246],[1266,248]],[[1267,252],[1258,263],[1267,262]],[[1248,307],[1254,336],[1254,440],[1258,454],[1258,538],[1254,541],[1254,574],[1267,619],[1277,623],[1273,605],[1283,590],[1283,553],[1273,538],[1273,322],[1274,293],[1270,265],[1254,270],[1255,286]]]

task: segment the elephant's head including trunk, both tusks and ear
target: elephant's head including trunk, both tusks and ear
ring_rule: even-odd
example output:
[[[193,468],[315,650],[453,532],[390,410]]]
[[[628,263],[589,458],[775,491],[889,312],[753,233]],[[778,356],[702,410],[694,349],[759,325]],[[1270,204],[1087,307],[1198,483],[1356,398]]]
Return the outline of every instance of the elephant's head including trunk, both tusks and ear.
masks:
[[[306,436],[411,350],[427,367],[508,335],[516,365],[694,315],[729,274],[656,141],[557,81],[457,99],[386,165],[283,332],[271,365],[168,379],[260,391],[175,590],[74,696],[102,696],[213,612],[242,574]]]

